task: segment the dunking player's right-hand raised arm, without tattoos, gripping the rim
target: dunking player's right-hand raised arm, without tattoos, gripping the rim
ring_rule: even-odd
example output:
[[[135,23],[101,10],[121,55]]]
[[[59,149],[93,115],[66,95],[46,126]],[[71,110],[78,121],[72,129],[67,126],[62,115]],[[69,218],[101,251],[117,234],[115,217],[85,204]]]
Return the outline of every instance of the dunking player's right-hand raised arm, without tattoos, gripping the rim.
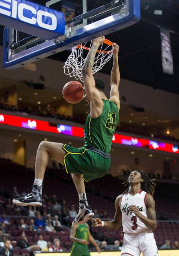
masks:
[[[111,100],[113,100],[118,108],[120,109],[119,101],[119,82],[120,82],[120,72],[118,64],[118,52],[119,46],[113,43],[113,68],[111,70]]]

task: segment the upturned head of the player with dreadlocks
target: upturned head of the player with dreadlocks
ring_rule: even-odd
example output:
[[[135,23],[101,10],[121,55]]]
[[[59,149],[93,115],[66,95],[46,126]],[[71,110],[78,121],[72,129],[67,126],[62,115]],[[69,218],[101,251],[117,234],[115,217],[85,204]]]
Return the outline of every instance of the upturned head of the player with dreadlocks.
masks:
[[[128,192],[130,186],[140,184],[141,190],[153,196],[153,194],[155,193],[155,186],[156,186],[156,184],[153,181],[154,179],[150,180],[149,177],[146,176],[146,174],[141,170],[134,170],[133,172],[131,172],[127,181],[123,183],[124,186],[127,186],[123,194],[126,194]]]

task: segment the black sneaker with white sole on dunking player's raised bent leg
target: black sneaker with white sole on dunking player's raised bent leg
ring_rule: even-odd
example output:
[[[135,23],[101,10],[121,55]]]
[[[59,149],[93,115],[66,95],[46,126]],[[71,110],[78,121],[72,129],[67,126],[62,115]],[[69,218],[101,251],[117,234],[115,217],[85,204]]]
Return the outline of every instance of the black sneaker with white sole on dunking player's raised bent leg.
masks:
[[[42,186],[33,185],[28,191],[26,196],[13,199],[15,205],[32,205],[42,206]]]

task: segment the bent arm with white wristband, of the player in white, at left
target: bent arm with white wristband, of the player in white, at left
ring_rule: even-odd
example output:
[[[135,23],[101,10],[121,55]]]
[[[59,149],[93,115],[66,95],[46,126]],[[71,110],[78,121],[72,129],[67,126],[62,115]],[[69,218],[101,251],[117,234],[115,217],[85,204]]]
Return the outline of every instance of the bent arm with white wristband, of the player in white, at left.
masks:
[[[118,196],[115,200],[115,216],[112,221],[104,221],[103,227],[106,229],[119,229],[122,224],[122,212],[120,209],[122,195]],[[102,227],[102,221],[99,218],[93,219],[93,227]]]

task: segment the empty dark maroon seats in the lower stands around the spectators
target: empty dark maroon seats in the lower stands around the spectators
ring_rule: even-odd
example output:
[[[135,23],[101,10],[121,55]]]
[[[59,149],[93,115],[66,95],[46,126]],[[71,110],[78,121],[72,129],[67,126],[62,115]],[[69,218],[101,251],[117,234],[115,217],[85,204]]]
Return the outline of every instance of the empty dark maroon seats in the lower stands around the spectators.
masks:
[[[25,223],[29,225],[30,218],[28,217],[27,208],[22,207],[21,211],[17,211],[17,208],[7,207],[7,198],[13,196],[13,186],[17,187],[19,193],[25,192],[29,189],[33,183],[34,170],[25,168],[24,166],[17,165],[9,159],[0,159],[1,179],[0,188],[3,197],[0,197],[0,214],[5,213],[9,216],[11,225],[7,226],[9,233],[9,239],[12,241],[14,255],[22,254],[26,256],[25,250],[18,250],[16,248],[15,241],[20,239],[18,226],[20,225],[20,219],[24,219]],[[169,185],[168,185],[169,186]],[[156,201],[157,217],[158,219],[166,219],[169,222],[162,222],[159,220],[157,230],[155,231],[155,238],[157,245],[161,246],[166,239],[170,239],[172,243],[179,237],[179,224],[177,223],[177,215],[179,215],[179,209],[176,207],[176,201],[161,196],[163,187],[167,187],[166,184],[157,184],[156,195],[154,196]],[[115,213],[114,199],[117,195],[124,191],[122,181],[107,174],[100,180],[97,179],[91,183],[87,183],[88,201],[93,209],[97,209],[97,212],[101,217],[104,212],[107,212],[106,218],[113,218]],[[172,189],[175,190],[175,186],[172,185]],[[64,170],[48,169],[44,180],[44,206],[39,207],[37,210],[51,213],[52,216],[57,214],[53,210],[53,194],[56,194],[57,200],[62,202],[66,201],[67,210],[71,208],[74,202],[78,202],[78,195],[75,187],[71,181],[71,177],[64,172]],[[45,196],[47,195],[47,196]],[[161,200],[162,199],[162,200]],[[71,220],[70,220],[71,221]],[[91,228],[91,232],[94,237],[97,237],[97,233],[101,233],[101,237],[107,239],[113,237],[115,240],[119,239],[119,235],[122,228],[119,230],[106,230]],[[64,250],[71,248],[71,242],[69,241],[69,227],[63,226],[61,232],[46,232],[45,230],[38,230],[33,236],[27,236],[29,245],[36,244],[38,240],[38,234],[44,236],[44,240],[53,241],[54,238],[60,238],[61,246]],[[99,235],[99,234],[98,234]]]

